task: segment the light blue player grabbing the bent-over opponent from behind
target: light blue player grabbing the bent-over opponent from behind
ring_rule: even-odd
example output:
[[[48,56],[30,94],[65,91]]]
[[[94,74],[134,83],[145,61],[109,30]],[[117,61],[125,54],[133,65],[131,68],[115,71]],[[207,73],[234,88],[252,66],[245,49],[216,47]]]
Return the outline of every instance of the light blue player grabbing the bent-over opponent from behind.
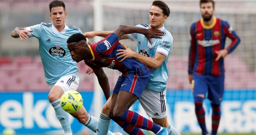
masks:
[[[166,112],[166,83],[168,79],[167,61],[172,47],[172,35],[165,29],[164,22],[170,15],[170,9],[165,2],[156,0],[152,3],[149,12],[150,24],[139,24],[137,27],[146,29],[160,29],[164,33],[161,39],[152,39],[153,44],[143,34],[133,33],[122,36],[121,39],[137,39],[137,50],[119,50],[121,51],[118,58],[135,58],[136,60],[151,67],[151,75],[143,94],[140,96],[140,103],[146,114],[153,119],[153,122],[168,127],[172,131],[172,135],[180,135],[177,129],[169,125]],[[87,38],[94,36],[106,37],[110,31],[105,32],[87,32],[84,35]],[[103,133],[108,131],[110,119],[107,110],[110,106],[109,101],[103,106],[101,117],[99,119],[97,129]],[[99,135],[103,135],[98,133]]]

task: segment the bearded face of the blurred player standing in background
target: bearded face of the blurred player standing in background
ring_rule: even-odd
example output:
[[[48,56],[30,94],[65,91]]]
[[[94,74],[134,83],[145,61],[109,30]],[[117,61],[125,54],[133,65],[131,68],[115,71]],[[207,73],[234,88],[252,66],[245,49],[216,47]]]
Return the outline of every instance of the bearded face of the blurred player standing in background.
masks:
[[[200,12],[204,21],[210,21],[214,14],[214,8],[212,2],[202,3],[200,6]]]

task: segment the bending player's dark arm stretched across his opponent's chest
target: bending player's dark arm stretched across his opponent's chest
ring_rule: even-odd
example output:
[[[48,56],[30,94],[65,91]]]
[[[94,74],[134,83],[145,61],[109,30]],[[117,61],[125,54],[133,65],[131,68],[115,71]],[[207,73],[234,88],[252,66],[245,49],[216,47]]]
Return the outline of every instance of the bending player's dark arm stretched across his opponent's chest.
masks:
[[[128,25],[120,25],[118,26],[114,32],[118,39],[120,40],[122,35],[124,34],[131,34],[131,33],[140,33],[146,36],[146,38],[149,40],[150,44],[152,45],[151,38],[161,38],[163,36],[164,32],[162,32],[159,29],[145,29],[145,28],[140,28],[136,26],[128,26]]]

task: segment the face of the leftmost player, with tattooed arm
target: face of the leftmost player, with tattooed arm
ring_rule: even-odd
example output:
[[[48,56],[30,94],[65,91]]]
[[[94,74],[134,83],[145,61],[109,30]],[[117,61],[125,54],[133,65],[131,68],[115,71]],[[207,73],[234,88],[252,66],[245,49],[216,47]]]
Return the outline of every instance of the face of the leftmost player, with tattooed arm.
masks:
[[[64,11],[63,7],[53,7],[50,12],[50,18],[52,23],[56,28],[65,26],[65,18],[67,13]]]

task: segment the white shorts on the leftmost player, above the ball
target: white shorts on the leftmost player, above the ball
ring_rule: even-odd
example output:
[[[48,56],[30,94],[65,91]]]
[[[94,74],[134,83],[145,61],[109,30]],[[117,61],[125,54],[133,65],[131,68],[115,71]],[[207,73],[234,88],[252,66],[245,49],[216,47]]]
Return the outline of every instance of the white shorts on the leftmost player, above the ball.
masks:
[[[63,89],[63,92],[68,90],[76,90],[79,85],[79,77],[74,75],[65,75],[61,77],[56,83],[48,84],[50,90],[53,86],[60,86]]]

